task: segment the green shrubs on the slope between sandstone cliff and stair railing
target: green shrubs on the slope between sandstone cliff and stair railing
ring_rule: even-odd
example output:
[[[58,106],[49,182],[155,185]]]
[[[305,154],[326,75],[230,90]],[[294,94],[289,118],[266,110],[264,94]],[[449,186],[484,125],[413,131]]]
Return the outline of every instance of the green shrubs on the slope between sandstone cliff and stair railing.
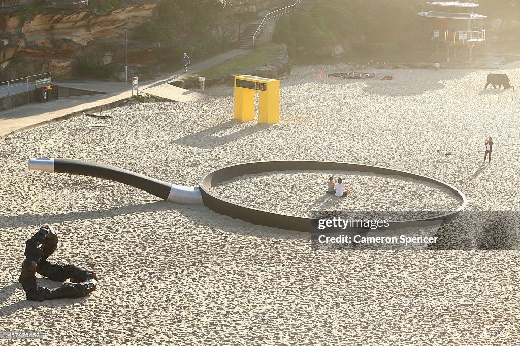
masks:
[[[172,43],[186,33],[203,34],[227,5],[226,0],[165,0],[159,6],[159,17],[139,25],[132,37]]]

